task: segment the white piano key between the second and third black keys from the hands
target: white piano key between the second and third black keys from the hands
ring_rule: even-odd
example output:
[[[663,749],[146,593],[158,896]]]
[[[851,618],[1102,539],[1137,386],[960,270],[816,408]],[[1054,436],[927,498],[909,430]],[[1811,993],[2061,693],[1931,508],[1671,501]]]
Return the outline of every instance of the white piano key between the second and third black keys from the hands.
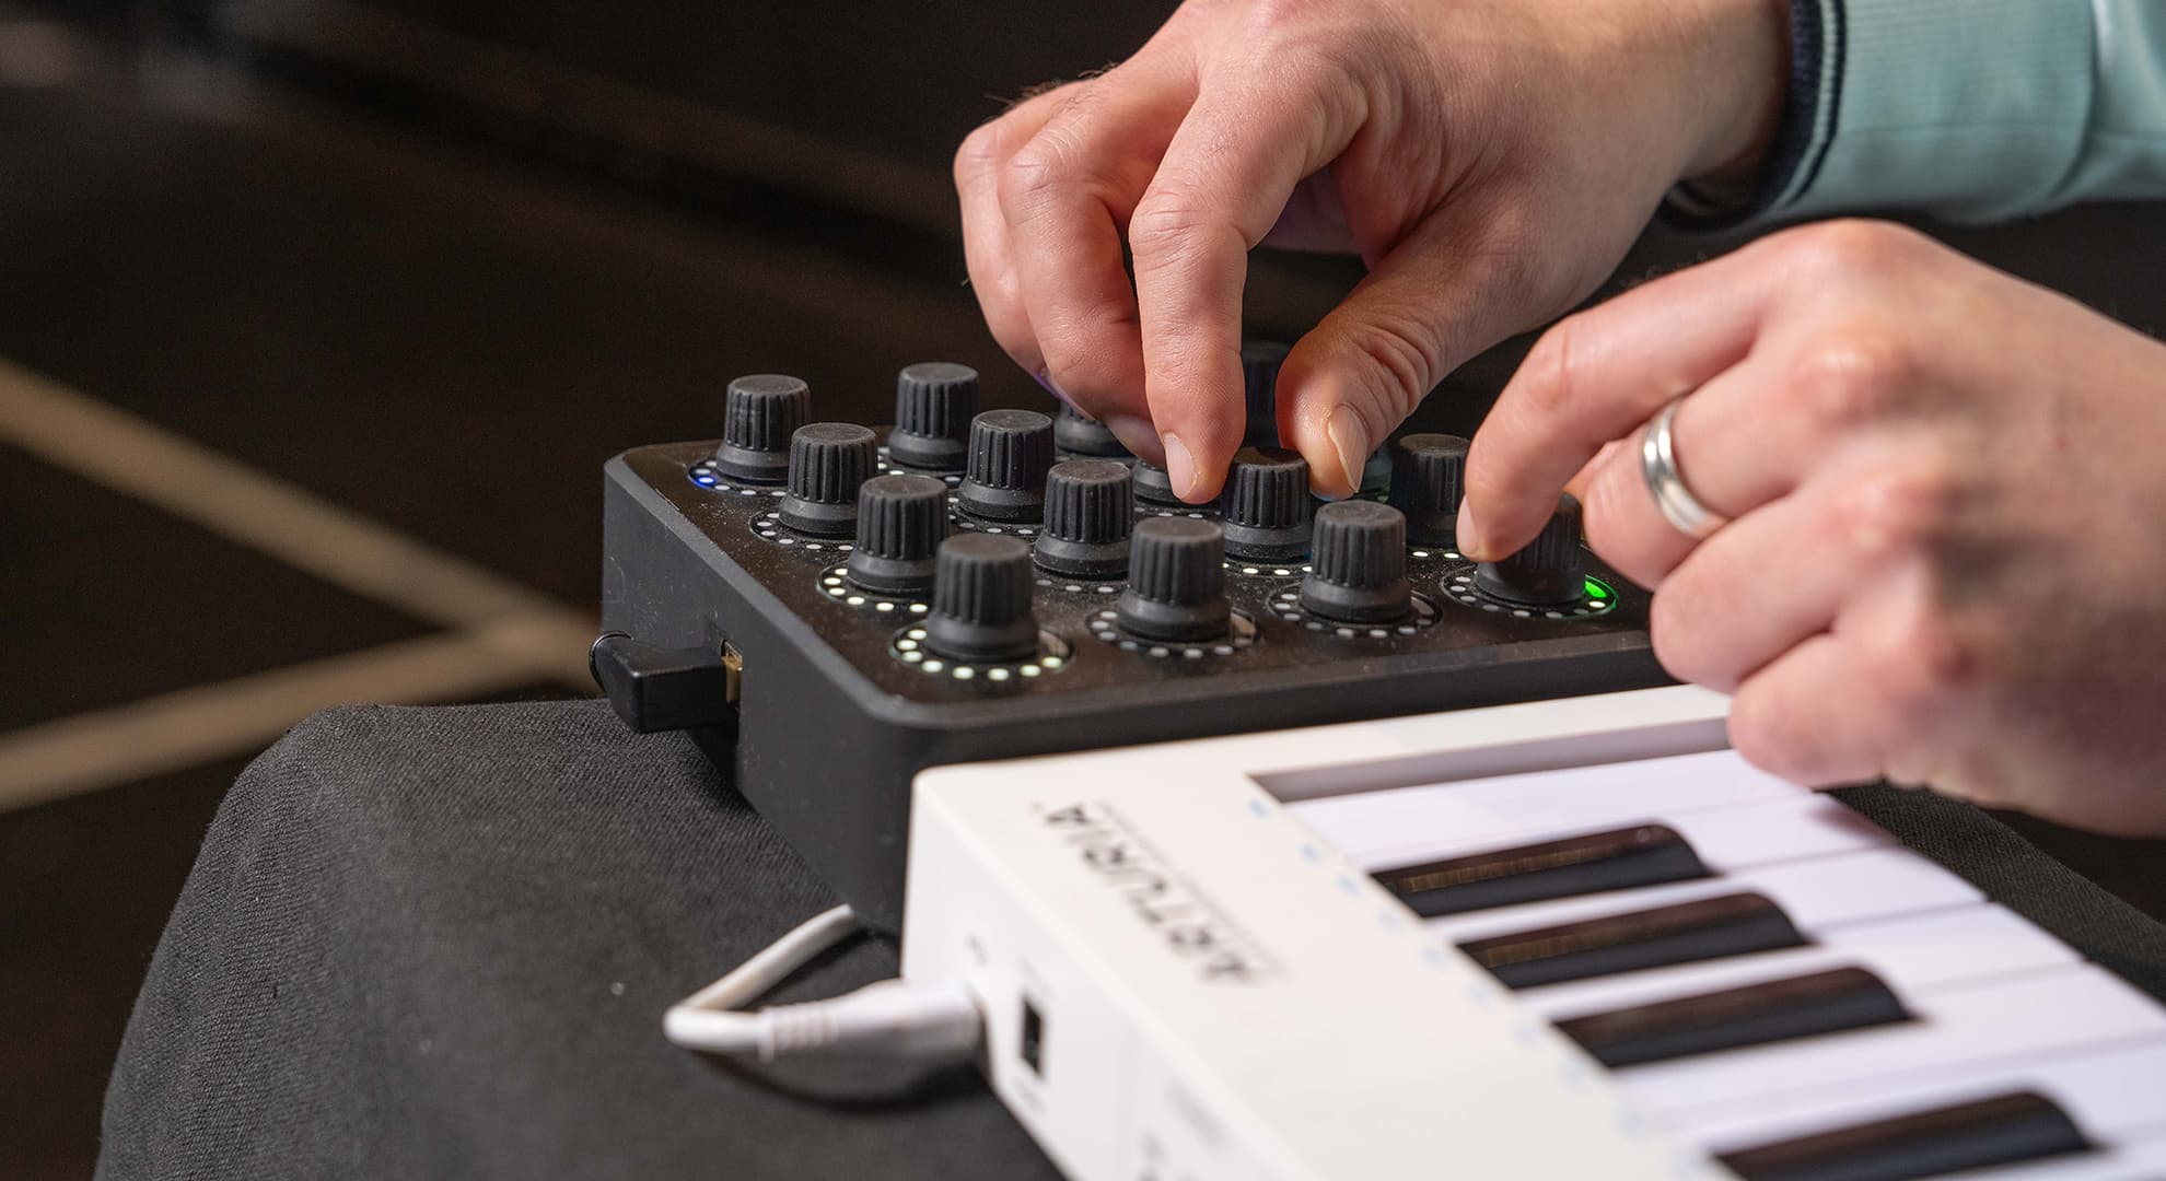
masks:
[[[1744,988],[1791,975],[1861,966],[1906,1005],[1939,986],[2075,964],[2077,953],[1993,904],[1858,923],[1813,947],[1754,951],[1668,969],[1646,969],[1525,988],[1518,999],[1549,1021],[1650,1005],[1698,992]]]

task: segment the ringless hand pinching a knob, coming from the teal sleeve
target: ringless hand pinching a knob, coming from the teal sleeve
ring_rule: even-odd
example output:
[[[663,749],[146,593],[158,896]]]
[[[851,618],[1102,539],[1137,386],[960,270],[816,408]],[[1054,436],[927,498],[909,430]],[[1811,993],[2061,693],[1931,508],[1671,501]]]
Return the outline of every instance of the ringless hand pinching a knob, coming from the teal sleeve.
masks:
[[[1586,297],[1681,178],[1772,134],[1783,0],[1189,0],[955,158],[992,334],[1204,501],[1241,442],[1261,243],[1369,277],[1287,358],[1319,492],[1451,368]],[[1133,251],[1135,280],[1122,264]]]

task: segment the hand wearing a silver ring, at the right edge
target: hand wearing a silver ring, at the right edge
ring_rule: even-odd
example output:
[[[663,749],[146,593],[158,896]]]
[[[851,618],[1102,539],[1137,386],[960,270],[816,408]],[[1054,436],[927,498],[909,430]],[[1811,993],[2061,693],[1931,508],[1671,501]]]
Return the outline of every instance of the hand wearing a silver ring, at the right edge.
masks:
[[[1687,392],[1679,470],[1733,518],[1705,542],[1640,470]],[[1525,544],[1575,470],[1746,758],[2166,832],[2160,342],[1908,230],[1791,230],[1553,327],[1473,442],[1460,548]]]

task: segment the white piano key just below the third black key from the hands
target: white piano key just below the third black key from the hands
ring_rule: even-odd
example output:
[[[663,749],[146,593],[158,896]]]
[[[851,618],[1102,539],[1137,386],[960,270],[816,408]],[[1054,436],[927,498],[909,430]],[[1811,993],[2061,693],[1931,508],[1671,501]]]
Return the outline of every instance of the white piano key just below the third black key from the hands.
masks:
[[[1919,999],[1915,1016],[1902,1025],[1631,1066],[1612,1077],[1650,1109],[1672,1114],[2166,1034],[2166,1010],[2090,964],[1939,988]]]

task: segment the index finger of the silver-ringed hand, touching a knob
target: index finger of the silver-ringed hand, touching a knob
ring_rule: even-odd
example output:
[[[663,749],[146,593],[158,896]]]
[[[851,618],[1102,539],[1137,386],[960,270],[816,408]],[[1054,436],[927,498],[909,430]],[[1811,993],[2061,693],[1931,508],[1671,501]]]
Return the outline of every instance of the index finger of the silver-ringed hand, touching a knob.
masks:
[[[1466,453],[1460,550],[1497,561],[1534,540],[1557,490],[1603,444],[1752,351],[1778,280],[1748,247],[1544,332]]]

